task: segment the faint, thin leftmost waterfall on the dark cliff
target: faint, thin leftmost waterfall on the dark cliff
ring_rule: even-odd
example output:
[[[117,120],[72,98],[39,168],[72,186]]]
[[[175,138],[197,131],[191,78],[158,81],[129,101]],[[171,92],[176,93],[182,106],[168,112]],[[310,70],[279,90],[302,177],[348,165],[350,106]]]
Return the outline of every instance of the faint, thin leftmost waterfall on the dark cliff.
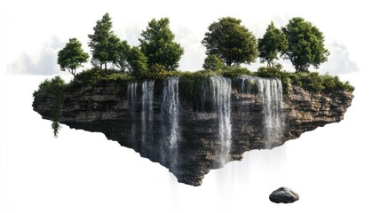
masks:
[[[129,83],[127,86],[127,99],[128,99],[128,110],[131,121],[131,134],[129,135],[129,141],[131,141],[131,145],[135,145],[137,147],[136,141],[136,89],[138,87],[138,83]]]

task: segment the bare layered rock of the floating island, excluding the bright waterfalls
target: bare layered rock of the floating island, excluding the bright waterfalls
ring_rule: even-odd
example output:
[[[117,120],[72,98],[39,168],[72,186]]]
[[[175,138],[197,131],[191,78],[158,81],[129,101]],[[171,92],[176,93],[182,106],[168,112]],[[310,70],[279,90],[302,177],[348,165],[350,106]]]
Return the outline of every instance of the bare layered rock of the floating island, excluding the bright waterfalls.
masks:
[[[234,82],[236,79],[232,85],[237,84]],[[201,106],[195,104],[200,103],[200,99],[190,99],[179,91],[179,137],[173,151],[173,147],[163,142],[163,129],[169,128],[164,121],[168,119],[163,116],[164,82],[153,84],[152,114],[147,114],[147,105],[143,103],[147,99],[143,97],[146,90],[143,83],[134,84],[135,96],[131,97],[131,88],[121,89],[117,83],[107,82],[66,91],[60,102],[59,122],[70,128],[102,132],[108,139],[133,148],[142,157],[159,162],[180,183],[201,185],[205,174],[226,163],[220,160],[218,115],[212,107],[212,94],[205,89]],[[290,84],[283,87],[282,134],[269,146],[264,131],[263,98],[256,90],[245,93],[239,88],[231,88],[231,146],[227,162],[241,160],[246,151],[282,146],[305,131],[340,122],[353,99],[350,91],[321,93]],[[37,91],[33,108],[44,119],[53,120],[54,103],[52,94]]]

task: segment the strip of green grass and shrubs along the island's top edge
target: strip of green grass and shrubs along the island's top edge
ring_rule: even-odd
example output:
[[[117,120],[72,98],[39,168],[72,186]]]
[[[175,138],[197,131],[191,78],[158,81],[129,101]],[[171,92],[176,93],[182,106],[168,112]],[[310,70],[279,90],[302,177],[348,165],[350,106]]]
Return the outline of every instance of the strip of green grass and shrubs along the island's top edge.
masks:
[[[75,91],[75,89],[83,85],[93,85],[103,82],[115,82],[121,86],[129,82],[139,82],[146,79],[163,80],[171,76],[180,76],[180,81],[187,84],[186,94],[192,95],[197,84],[213,75],[223,75],[226,77],[237,77],[240,75],[251,75],[264,78],[280,78],[283,86],[287,87],[289,83],[298,85],[307,91],[330,92],[330,91],[354,91],[354,87],[348,82],[341,82],[337,76],[329,74],[320,75],[317,72],[311,73],[290,73],[281,71],[278,68],[260,67],[257,72],[250,72],[247,68],[242,67],[226,67],[224,70],[212,71],[201,70],[197,72],[179,72],[179,71],[161,71],[154,74],[135,77],[129,73],[122,73],[115,70],[99,71],[98,69],[84,70],[75,75],[75,81],[64,83],[60,77],[55,77],[52,80],[45,80],[39,86],[39,91],[47,91],[56,93],[61,91]]]

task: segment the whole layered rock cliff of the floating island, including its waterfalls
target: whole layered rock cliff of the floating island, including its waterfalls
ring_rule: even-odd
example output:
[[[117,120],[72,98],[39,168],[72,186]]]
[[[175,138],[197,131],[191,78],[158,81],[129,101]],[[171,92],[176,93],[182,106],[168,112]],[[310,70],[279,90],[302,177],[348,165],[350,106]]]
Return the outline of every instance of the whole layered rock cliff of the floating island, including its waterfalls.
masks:
[[[318,93],[292,85],[275,88],[274,81],[228,80],[229,90],[210,80],[193,98],[179,89],[178,81],[130,83],[127,88],[87,85],[64,93],[59,122],[102,132],[159,162],[179,182],[201,185],[210,170],[241,160],[246,151],[282,146],[305,131],[341,121],[353,99],[348,91]],[[222,91],[228,96],[219,97]],[[37,91],[33,108],[53,120],[54,96]]]

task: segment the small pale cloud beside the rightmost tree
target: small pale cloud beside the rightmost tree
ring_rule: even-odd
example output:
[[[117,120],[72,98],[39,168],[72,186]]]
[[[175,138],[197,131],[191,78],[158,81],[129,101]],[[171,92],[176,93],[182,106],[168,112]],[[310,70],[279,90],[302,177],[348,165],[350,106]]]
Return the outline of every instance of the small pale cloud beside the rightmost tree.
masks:
[[[344,43],[334,41],[328,47],[330,55],[328,61],[321,65],[321,73],[344,75],[359,71],[359,67],[349,57],[349,51]]]

